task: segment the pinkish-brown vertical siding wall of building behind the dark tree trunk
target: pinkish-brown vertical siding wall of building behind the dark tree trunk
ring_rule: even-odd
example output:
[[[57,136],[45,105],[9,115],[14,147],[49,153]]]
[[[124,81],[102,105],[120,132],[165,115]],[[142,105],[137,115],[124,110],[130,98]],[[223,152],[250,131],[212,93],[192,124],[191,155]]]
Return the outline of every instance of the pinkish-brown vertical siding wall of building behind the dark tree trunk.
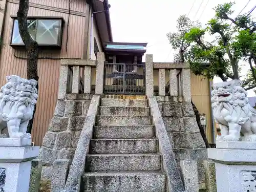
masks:
[[[66,10],[52,11],[46,8],[38,8],[32,5],[29,8],[29,16],[60,16],[65,19],[65,28],[62,37],[61,51],[41,51],[39,57],[66,57],[66,58],[82,58],[83,54],[83,41],[84,30],[86,29],[85,14],[70,14],[69,22],[69,36],[68,36],[68,49],[66,51],[67,40],[67,21],[68,21],[68,8],[67,0],[30,0],[34,4],[44,4],[54,8],[61,8]],[[86,10],[86,1],[72,0],[71,10],[82,12]],[[11,15],[16,15],[18,10],[18,1],[9,0],[7,5],[7,13],[5,20],[3,47],[1,50],[0,58],[0,86],[6,83],[6,75],[19,75],[26,78],[26,53],[24,51],[14,50],[9,46],[12,32],[13,20]],[[50,7],[49,7],[50,9]],[[81,13],[82,14],[82,13]],[[15,56],[14,56],[15,55]],[[41,145],[42,138],[48,129],[48,124],[53,116],[55,109],[57,92],[58,92],[58,79],[59,79],[59,59],[39,59],[38,60],[38,76],[39,76],[39,97],[36,106],[36,114],[32,130],[32,140],[36,145]]]

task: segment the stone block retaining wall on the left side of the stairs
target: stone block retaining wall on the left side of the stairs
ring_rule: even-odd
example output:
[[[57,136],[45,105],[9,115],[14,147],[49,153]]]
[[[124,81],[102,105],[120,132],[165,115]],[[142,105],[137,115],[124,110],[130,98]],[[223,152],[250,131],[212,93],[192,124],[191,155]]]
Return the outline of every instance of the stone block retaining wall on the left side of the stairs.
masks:
[[[66,159],[71,164],[91,99],[91,94],[66,94],[65,99],[58,99],[37,158],[42,164],[41,180],[51,180],[54,160]]]

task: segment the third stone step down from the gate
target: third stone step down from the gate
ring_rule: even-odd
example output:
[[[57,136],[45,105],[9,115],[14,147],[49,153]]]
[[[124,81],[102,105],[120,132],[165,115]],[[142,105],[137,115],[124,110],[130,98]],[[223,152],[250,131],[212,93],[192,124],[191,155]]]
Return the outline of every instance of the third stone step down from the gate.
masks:
[[[106,116],[97,115],[96,125],[152,125],[150,116]]]

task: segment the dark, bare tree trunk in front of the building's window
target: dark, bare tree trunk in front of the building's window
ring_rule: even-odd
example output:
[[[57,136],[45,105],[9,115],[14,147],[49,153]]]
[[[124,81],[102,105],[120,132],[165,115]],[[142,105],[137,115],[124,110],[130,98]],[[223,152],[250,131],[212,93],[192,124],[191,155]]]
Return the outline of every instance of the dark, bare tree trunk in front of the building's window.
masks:
[[[19,7],[17,12],[18,19],[18,29],[20,37],[22,38],[26,51],[27,51],[27,78],[35,79],[38,81],[37,75],[37,59],[38,59],[38,44],[37,42],[31,38],[28,31],[28,10],[29,10],[29,0],[19,0]],[[38,84],[36,86],[38,90]],[[36,110],[36,105],[33,111],[33,117],[29,121],[27,133],[31,133],[32,124],[34,120],[34,114]]]

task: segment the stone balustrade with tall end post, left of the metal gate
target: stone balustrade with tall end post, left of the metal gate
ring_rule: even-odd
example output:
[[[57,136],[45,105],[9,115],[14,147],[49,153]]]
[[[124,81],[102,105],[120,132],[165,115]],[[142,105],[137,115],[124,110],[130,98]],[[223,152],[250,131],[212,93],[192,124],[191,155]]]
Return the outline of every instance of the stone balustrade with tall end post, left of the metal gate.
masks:
[[[94,73],[92,73],[92,69]],[[96,73],[96,74],[95,74]],[[97,53],[97,60],[62,59],[59,75],[58,99],[67,93],[92,93],[92,79],[95,79],[95,94],[103,93],[104,53]]]

